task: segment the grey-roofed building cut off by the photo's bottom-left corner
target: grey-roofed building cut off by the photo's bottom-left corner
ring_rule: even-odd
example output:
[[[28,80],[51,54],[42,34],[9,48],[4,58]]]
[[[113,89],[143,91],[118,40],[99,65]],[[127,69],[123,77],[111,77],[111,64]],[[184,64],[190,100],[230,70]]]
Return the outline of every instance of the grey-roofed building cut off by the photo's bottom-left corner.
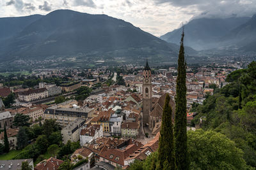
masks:
[[[21,169],[22,162],[28,162],[29,166],[31,166],[31,168],[34,169],[33,159],[0,160],[0,166],[1,166],[0,169],[1,170]]]

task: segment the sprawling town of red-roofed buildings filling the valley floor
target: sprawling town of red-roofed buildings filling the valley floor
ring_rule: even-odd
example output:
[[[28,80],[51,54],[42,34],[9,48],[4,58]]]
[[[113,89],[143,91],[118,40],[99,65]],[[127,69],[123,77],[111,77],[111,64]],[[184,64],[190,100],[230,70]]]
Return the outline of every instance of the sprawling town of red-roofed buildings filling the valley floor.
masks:
[[[187,130],[200,128],[194,108],[249,62],[187,66]],[[125,65],[35,69],[0,76],[1,167],[127,169],[156,152],[166,94],[175,112],[177,67]],[[4,151],[6,137],[9,150]],[[32,152],[33,151],[33,152]]]

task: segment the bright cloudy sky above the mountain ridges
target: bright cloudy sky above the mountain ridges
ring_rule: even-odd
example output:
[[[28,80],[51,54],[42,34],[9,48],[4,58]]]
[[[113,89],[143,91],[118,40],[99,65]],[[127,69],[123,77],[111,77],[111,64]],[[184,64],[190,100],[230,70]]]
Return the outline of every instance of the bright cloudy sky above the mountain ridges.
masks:
[[[161,36],[193,18],[251,17],[256,0],[0,0],[0,17],[46,15],[60,9],[106,14]]]

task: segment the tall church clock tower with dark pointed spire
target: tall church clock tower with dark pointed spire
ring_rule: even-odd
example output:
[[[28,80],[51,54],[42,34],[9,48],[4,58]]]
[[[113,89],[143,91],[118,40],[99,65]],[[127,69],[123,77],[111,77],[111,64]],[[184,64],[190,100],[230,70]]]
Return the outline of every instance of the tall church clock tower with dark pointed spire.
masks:
[[[143,126],[148,125],[149,113],[152,110],[152,76],[151,69],[146,66],[143,69]]]

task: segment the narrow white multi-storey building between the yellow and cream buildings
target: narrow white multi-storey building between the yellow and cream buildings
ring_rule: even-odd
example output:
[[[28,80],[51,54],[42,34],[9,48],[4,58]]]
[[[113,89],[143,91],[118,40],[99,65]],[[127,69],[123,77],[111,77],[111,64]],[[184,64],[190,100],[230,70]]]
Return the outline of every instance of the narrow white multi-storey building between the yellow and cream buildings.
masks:
[[[112,115],[109,119],[110,132],[113,136],[121,135],[121,124],[123,122],[123,117],[118,115]]]

